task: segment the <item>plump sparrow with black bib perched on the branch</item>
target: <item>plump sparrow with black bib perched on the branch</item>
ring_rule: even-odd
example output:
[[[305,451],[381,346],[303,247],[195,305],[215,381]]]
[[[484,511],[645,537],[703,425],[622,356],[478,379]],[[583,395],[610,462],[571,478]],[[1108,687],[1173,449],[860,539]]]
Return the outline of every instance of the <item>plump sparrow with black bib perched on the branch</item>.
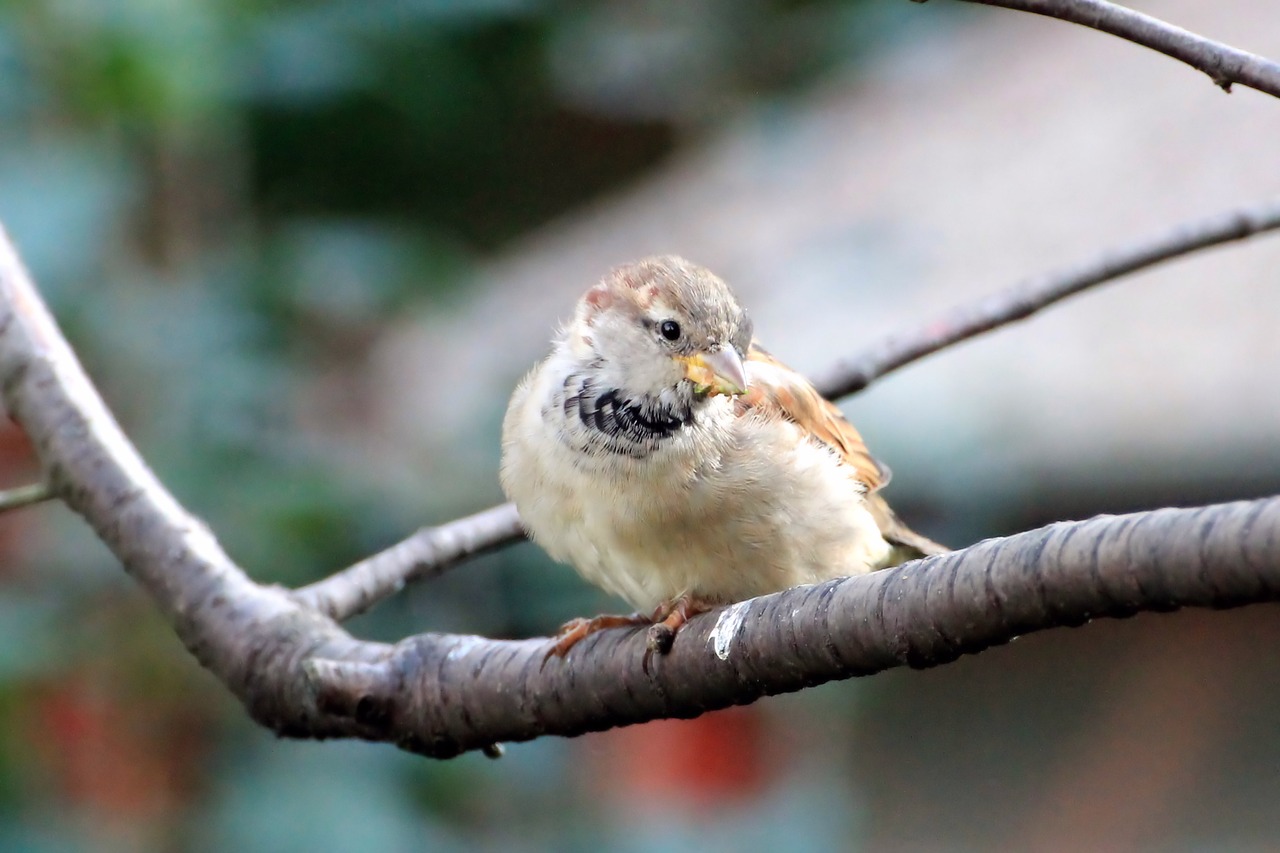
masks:
[[[682,257],[613,269],[579,300],[503,421],[502,485],[525,529],[650,625],[667,652],[694,615],[945,552],[878,494],[888,469],[773,359],[722,279]]]

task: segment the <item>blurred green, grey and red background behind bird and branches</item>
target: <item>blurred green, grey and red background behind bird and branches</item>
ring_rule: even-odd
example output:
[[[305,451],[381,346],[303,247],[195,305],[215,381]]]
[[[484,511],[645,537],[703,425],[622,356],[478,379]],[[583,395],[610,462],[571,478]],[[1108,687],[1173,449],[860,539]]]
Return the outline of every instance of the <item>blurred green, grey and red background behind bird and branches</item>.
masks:
[[[1139,4],[1135,4],[1139,5]],[[1271,58],[1272,0],[1140,8]],[[613,264],[718,270],[819,375],[1280,193],[1280,102],[900,0],[0,3],[0,220],[161,479],[302,584],[500,500],[507,396]],[[846,402],[952,544],[1280,492],[1280,238]],[[35,475],[0,433],[6,484]],[[65,510],[0,517],[0,849],[1280,849],[1280,611],[1028,637],[502,761],[276,740]],[[529,544],[356,620],[617,610]]]

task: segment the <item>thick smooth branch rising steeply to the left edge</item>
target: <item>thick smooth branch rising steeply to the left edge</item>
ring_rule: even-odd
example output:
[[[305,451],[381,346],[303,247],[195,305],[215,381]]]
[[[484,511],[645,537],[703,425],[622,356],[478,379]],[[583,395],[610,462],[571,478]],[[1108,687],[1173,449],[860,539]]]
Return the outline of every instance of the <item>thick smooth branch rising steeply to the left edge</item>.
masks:
[[[187,648],[259,722],[305,736],[360,734],[314,710],[301,661],[375,660],[287,592],[252,583],[160,484],[120,432],[0,231],[0,392],[45,483],[156,601]]]

